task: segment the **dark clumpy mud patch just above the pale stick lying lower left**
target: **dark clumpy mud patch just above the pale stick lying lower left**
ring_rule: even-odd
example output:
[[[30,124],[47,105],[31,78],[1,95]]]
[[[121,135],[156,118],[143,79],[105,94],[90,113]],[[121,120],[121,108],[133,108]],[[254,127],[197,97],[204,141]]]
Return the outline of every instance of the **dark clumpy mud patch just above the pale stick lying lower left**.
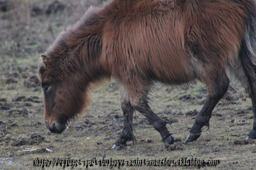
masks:
[[[29,139],[22,138],[20,140],[15,140],[12,143],[12,146],[22,146],[22,145],[34,145],[41,143],[45,140],[44,136],[41,136],[40,134],[32,134]]]

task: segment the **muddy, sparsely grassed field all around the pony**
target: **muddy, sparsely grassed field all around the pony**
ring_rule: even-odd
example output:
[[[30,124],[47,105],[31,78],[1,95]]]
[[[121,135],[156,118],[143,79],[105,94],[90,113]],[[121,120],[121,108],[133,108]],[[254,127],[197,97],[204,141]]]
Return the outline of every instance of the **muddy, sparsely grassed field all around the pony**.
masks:
[[[204,127],[203,131],[207,131],[188,144],[183,142],[207,95],[201,83],[187,90],[156,85],[150,96],[152,110],[172,124],[172,128],[167,127],[174,134],[175,143],[169,147],[161,142],[159,133],[145,117],[136,112],[133,117],[136,144],[128,142],[111,149],[123,124],[115,82],[93,89],[91,105],[62,134],[49,132],[44,123],[43,92],[37,77],[40,54],[89,6],[100,3],[100,0],[0,0],[0,169],[40,169],[40,160],[52,161],[44,169],[60,169],[64,166],[60,160],[68,162],[68,159],[80,160],[76,168],[86,167],[86,160],[97,163],[88,167],[91,169],[110,168],[107,160],[128,161],[122,167],[127,169],[197,168],[145,165],[147,161],[165,158],[217,160],[218,165],[207,164],[203,169],[254,169],[256,140],[245,140],[253,123],[251,100],[235,83],[214,109],[210,130]],[[99,162],[102,160],[106,166]],[[137,163],[145,160],[145,164],[128,166],[136,163],[129,160]],[[72,163],[75,165],[75,161]]]

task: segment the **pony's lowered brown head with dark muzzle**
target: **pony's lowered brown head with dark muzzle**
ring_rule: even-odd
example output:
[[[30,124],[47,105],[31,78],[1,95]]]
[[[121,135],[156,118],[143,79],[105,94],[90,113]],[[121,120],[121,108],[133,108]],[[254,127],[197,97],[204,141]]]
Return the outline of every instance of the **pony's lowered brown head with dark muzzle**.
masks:
[[[89,84],[79,76],[79,61],[69,55],[46,53],[41,57],[38,74],[44,91],[45,123],[52,133],[59,134],[89,101]]]

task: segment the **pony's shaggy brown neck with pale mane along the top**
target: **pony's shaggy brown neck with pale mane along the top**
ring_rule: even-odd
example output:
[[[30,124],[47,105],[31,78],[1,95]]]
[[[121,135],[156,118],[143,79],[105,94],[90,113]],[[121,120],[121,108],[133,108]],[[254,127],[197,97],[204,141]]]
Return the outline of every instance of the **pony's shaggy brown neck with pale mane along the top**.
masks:
[[[64,36],[70,57],[76,60],[80,74],[89,82],[109,77],[100,60],[104,24],[99,17],[100,12],[98,8],[89,9],[75,25],[67,29]]]

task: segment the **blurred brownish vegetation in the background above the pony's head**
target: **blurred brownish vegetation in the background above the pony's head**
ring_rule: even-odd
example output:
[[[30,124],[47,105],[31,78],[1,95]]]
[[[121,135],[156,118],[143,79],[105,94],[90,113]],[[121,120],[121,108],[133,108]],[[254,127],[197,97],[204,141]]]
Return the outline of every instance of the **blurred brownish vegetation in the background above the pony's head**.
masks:
[[[68,25],[102,0],[0,0],[0,57],[43,53]]]

